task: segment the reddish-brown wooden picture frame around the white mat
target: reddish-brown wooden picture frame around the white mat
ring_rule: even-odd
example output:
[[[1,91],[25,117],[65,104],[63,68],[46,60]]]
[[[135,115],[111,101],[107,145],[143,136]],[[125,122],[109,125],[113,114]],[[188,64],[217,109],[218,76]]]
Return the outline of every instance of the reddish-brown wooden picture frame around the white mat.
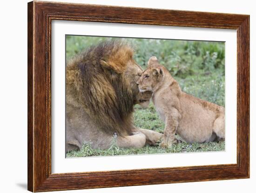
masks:
[[[236,29],[237,164],[51,173],[52,20]],[[29,191],[249,178],[249,15],[32,1],[27,43]]]

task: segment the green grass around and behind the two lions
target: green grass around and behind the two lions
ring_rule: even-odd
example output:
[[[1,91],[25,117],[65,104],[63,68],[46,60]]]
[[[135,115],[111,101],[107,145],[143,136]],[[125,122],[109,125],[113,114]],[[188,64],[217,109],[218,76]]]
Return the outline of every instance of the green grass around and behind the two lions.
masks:
[[[102,40],[116,39],[105,37],[66,36],[67,59],[86,47]],[[185,41],[185,40],[149,40],[125,39],[135,47],[135,60],[143,69],[148,59],[155,55],[160,63],[167,67],[186,93],[203,100],[225,106],[225,45],[223,42]],[[164,123],[155,112],[154,105],[142,109],[135,106],[134,124],[137,127],[163,133]],[[152,153],[183,153],[224,151],[225,142],[186,143],[182,142],[169,148],[144,146],[140,149],[119,148],[115,145],[115,136],[109,149],[92,149],[84,144],[79,151],[67,153],[67,157],[112,156]]]

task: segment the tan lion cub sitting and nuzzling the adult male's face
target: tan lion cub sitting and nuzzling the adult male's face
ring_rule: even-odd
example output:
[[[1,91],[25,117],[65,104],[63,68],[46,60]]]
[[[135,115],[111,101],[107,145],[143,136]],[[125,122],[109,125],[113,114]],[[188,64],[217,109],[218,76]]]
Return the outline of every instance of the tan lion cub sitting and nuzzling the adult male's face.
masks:
[[[168,70],[155,56],[137,81],[140,92],[151,91],[156,111],[165,122],[162,146],[178,142],[175,133],[186,142],[209,142],[225,138],[225,109],[182,92]]]

